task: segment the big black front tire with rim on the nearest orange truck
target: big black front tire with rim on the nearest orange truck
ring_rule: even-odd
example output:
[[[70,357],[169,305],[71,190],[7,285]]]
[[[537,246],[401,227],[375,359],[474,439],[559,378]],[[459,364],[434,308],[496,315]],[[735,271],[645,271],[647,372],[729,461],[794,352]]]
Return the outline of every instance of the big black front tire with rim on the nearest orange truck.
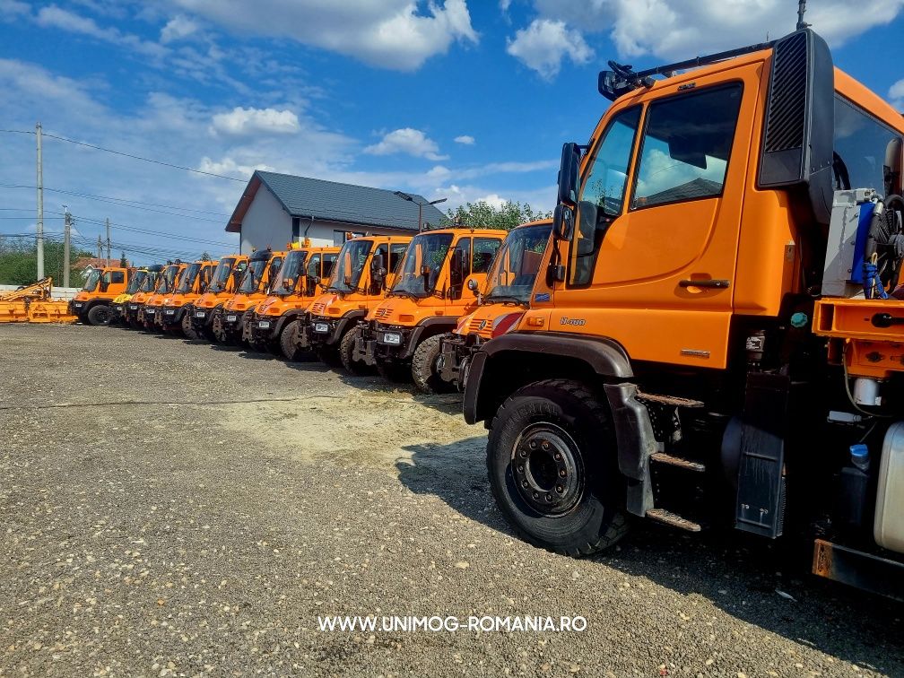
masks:
[[[589,556],[627,532],[611,415],[577,381],[538,381],[506,400],[490,428],[486,470],[505,520],[534,546]]]

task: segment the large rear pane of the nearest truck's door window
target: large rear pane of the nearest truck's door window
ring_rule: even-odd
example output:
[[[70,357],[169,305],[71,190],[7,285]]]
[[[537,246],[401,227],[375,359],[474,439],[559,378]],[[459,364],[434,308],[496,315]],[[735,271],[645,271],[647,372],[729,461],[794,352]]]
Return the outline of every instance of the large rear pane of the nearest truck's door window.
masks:
[[[736,84],[650,104],[631,209],[722,194],[742,94]]]

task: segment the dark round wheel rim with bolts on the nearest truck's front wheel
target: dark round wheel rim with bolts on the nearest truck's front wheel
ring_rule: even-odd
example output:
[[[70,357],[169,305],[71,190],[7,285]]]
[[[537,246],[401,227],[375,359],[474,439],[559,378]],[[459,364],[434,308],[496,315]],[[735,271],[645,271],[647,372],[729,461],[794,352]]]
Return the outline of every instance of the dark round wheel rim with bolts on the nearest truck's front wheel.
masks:
[[[584,494],[584,465],[565,429],[541,422],[525,428],[512,450],[515,488],[543,515],[568,513]]]

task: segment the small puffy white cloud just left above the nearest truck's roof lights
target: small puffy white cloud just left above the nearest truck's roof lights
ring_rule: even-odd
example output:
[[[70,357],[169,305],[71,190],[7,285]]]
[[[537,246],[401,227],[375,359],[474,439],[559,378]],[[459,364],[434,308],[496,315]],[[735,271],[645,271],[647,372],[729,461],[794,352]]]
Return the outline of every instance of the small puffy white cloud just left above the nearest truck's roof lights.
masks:
[[[562,21],[534,19],[508,40],[505,51],[523,61],[524,65],[540,73],[544,80],[559,74],[562,60],[567,56],[574,63],[586,63],[593,56],[578,31]]]

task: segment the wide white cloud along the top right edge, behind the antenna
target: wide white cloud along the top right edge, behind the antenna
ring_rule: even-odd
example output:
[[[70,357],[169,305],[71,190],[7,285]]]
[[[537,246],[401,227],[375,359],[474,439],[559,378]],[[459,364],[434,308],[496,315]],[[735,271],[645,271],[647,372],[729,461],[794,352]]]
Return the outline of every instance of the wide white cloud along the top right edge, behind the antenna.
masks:
[[[534,0],[541,19],[608,33],[620,57],[687,59],[791,33],[796,3],[787,0]],[[835,46],[889,24],[904,0],[821,0],[806,20]]]

